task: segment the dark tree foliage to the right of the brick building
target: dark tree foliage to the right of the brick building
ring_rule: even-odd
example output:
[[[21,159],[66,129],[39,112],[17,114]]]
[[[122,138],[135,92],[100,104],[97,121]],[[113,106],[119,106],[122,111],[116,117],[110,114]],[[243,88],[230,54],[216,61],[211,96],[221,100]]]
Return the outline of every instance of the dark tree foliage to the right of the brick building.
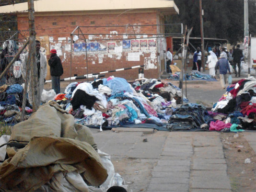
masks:
[[[192,37],[200,37],[199,0],[174,0],[179,15],[166,16],[165,23],[193,27]],[[244,0],[202,0],[204,36],[228,39],[236,44],[244,39]],[[256,35],[256,1],[248,0],[249,34]],[[166,33],[171,33],[168,26]]]

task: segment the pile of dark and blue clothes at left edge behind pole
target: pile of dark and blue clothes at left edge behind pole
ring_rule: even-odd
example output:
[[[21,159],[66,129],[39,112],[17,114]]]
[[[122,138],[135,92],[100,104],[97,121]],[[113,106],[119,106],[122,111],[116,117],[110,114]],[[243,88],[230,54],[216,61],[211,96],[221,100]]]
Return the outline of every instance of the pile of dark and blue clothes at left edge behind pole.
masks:
[[[21,121],[21,107],[23,101],[23,87],[19,84],[2,85],[0,87],[0,121],[16,124]],[[32,109],[26,103],[25,118],[32,113]]]

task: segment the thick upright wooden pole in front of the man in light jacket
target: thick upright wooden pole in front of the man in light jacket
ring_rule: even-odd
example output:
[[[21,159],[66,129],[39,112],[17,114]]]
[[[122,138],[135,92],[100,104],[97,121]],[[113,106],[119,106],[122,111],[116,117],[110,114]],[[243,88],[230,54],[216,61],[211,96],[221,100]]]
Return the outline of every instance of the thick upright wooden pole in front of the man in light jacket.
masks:
[[[34,15],[34,0],[28,0],[28,25],[29,25],[29,53],[28,61],[31,69],[31,93],[32,93],[32,106],[35,112],[40,104],[38,98],[38,85],[37,85],[37,66],[35,59],[35,15]],[[43,74],[42,74],[43,75]]]

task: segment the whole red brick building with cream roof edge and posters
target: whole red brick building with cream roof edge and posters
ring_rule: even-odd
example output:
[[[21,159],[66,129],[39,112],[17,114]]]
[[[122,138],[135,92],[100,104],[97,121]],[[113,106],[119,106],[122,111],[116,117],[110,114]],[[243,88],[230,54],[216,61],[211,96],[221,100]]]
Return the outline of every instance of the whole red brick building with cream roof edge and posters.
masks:
[[[165,37],[158,38],[164,34],[164,26],[159,24],[164,24],[165,15],[178,13],[173,0],[37,0],[34,3],[36,39],[41,41],[46,55],[50,49],[57,49],[64,68],[61,78],[138,65],[145,65],[145,78],[158,78],[163,73],[163,50],[167,44]],[[16,12],[18,30],[28,30],[27,3],[1,6],[0,12]],[[81,31],[74,31],[77,26]],[[71,51],[72,32],[76,36]],[[137,79],[138,68],[107,73],[105,77],[112,75]]]

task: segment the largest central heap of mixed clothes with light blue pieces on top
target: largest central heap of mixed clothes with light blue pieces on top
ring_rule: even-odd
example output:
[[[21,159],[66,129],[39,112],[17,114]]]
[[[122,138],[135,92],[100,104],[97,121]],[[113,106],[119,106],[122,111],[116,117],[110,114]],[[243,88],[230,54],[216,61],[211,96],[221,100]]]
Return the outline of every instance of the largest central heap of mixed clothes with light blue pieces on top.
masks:
[[[102,128],[141,123],[163,126],[181,102],[181,91],[157,79],[128,83],[112,76],[91,83],[71,83],[54,100],[79,124]]]

